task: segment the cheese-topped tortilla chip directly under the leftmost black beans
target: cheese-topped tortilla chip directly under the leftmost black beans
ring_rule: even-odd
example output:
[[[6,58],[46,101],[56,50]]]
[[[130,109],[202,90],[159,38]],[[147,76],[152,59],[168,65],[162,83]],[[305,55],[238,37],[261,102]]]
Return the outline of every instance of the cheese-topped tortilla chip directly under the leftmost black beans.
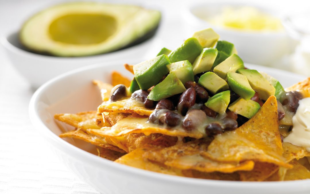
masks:
[[[146,115],[149,116],[154,110],[144,107],[144,104],[135,100],[130,100],[126,98],[116,102],[103,102],[98,107],[98,112],[114,112],[114,113],[130,113],[137,115]]]

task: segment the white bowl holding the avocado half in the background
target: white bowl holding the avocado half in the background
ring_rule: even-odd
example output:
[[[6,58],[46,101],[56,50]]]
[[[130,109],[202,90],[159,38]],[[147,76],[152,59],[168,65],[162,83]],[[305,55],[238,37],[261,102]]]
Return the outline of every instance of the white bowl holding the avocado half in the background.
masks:
[[[36,89],[57,75],[85,65],[116,60],[124,63],[128,59],[141,57],[141,53],[152,47],[154,39],[115,52],[84,57],[46,56],[26,51],[19,42],[18,33],[8,34],[0,42],[15,69]]]

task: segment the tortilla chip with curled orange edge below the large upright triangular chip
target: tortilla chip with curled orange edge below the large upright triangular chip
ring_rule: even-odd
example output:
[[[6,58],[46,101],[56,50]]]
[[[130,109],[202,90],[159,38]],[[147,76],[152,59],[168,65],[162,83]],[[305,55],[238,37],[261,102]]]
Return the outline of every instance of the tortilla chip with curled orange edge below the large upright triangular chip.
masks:
[[[183,170],[198,170],[201,172],[223,172],[232,173],[238,170],[251,170],[254,167],[253,161],[218,162],[204,158],[199,155],[201,150],[206,149],[210,143],[206,141],[192,141],[179,143],[172,147],[158,148],[145,152],[143,157],[148,160]]]

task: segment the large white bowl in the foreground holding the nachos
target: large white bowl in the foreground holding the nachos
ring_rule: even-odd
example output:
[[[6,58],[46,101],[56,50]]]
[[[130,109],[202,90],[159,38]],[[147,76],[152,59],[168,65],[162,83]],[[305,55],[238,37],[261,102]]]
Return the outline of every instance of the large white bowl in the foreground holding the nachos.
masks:
[[[246,66],[271,74],[279,79],[284,87],[304,79],[303,76],[286,71],[248,64]],[[60,160],[99,192],[106,194],[302,194],[310,192],[310,180],[255,183],[184,178],[149,172],[113,163],[91,154],[89,152],[93,151],[93,147],[83,147],[85,144],[81,141],[59,138],[58,135],[63,130],[70,128],[65,124],[57,125],[53,115],[96,110],[101,100],[99,91],[92,85],[91,80],[101,79],[107,82],[112,70],[130,75],[118,62],[87,66],[65,73],[42,85],[34,93],[29,105],[33,125],[51,145]]]

